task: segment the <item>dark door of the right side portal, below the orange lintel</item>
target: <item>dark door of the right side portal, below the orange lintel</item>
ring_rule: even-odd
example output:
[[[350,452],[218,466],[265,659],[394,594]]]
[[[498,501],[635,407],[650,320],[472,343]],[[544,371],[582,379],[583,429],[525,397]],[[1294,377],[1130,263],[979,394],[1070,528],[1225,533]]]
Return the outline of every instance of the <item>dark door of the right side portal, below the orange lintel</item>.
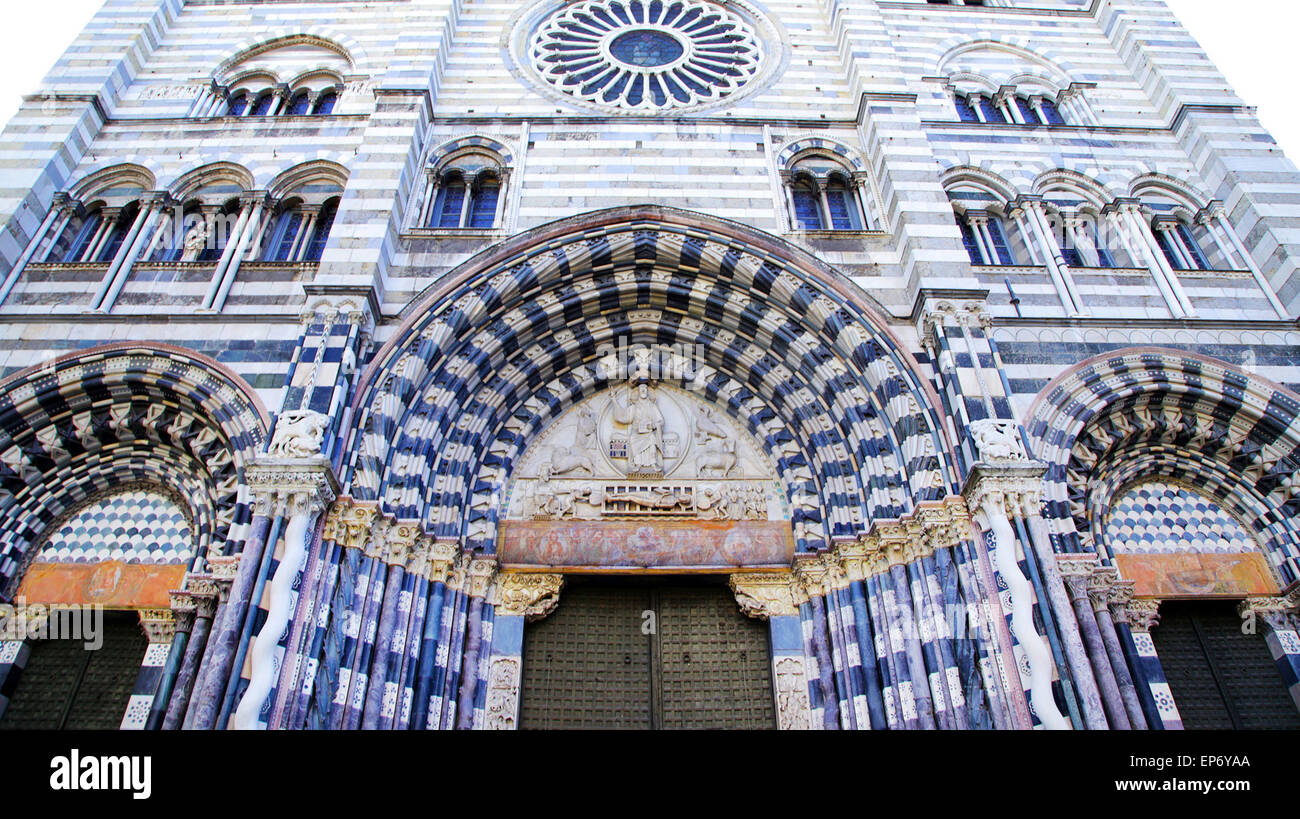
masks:
[[[1150,632],[1187,728],[1300,728],[1260,633],[1243,634],[1232,602],[1165,603]]]

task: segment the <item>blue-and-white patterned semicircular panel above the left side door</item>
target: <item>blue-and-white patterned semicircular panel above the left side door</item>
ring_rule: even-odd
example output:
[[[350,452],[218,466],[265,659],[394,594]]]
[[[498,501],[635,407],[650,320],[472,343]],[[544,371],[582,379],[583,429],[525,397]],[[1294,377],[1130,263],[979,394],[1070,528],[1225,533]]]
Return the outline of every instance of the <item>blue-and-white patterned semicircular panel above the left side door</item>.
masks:
[[[40,550],[42,563],[185,563],[194,533],[185,512],[160,491],[134,489],[73,515]]]

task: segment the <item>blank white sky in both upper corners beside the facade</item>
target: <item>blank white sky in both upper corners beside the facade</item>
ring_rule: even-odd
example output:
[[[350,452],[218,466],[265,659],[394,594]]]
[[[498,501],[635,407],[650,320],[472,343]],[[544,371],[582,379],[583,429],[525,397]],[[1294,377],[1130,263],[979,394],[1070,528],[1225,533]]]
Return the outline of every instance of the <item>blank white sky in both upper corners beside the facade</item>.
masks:
[[[0,122],[18,110],[103,0],[0,0]],[[1300,107],[1283,55],[1296,48],[1300,4],[1290,0],[1166,0],[1292,161]]]

